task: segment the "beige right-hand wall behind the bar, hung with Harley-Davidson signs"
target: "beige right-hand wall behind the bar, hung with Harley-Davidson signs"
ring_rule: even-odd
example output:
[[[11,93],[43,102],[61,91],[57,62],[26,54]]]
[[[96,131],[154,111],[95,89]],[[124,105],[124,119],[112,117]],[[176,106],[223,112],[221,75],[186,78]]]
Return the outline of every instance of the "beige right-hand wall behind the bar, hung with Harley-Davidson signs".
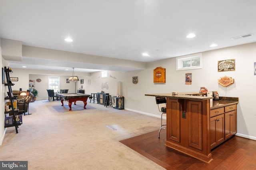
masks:
[[[236,71],[218,72],[217,62],[236,59]],[[197,92],[205,86],[209,91],[218,91],[220,96],[238,97],[238,134],[256,140],[255,121],[256,94],[254,62],[256,62],[256,43],[239,45],[202,53],[203,68],[176,71],[176,59],[165,59],[148,63],[141,71],[126,72],[125,104],[126,108],[142,113],[160,116],[154,97],[144,94],[178,92]],[[157,66],[166,68],[166,83],[153,83],[153,70]],[[185,84],[185,73],[192,73],[192,85]],[[132,76],[138,76],[138,84],[131,82]],[[223,76],[234,78],[234,84],[223,87],[217,80]]]

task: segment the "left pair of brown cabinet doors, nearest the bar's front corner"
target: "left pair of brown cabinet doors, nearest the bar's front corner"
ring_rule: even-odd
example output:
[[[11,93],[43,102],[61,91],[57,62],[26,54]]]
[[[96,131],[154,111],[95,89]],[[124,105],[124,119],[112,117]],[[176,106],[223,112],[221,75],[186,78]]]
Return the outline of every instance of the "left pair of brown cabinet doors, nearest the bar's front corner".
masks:
[[[224,114],[210,118],[210,147],[224,141]]]

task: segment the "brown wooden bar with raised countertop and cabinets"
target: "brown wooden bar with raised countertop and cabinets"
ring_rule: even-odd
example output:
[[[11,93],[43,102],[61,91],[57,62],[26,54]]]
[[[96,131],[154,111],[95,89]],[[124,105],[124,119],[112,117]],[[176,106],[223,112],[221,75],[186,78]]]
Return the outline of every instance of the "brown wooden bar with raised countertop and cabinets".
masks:
[[[184,92],[145,94],[166,97],[166,146],[210,163],[211,149],[236,134],[238,98]]]

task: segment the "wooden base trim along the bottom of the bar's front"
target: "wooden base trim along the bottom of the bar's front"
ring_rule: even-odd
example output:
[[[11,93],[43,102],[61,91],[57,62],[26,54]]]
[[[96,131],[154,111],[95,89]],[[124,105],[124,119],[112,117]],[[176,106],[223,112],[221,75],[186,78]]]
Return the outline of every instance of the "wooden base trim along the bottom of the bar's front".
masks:
[[[202,160],[203,162],[210,163],[212,161],[212,154],[204,155],[201,153],[198,153],[194,150],[190,150],[188,148],[182,147],[180,145],[175,145],[174,143],[170,143],[169,141],[166,141],[165,144],[166,147],[170,147],[172,149],[178,150],[179,152],[182,152],[184,154],[187,154],[189,156],[192,156],[193,158],[196,158],[198,160]]]

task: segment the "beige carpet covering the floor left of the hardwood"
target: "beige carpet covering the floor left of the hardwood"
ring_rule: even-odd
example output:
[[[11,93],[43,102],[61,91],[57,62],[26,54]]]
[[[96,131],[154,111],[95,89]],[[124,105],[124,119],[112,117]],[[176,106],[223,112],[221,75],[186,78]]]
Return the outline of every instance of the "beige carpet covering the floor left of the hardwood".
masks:
[[[58,112],[60,105],[30,103],[19,133],[7,128],[0,160],[27,160],[29,170],[164,169],[119,142],[158,130],[159,118],[89,102],[95,109]]]

